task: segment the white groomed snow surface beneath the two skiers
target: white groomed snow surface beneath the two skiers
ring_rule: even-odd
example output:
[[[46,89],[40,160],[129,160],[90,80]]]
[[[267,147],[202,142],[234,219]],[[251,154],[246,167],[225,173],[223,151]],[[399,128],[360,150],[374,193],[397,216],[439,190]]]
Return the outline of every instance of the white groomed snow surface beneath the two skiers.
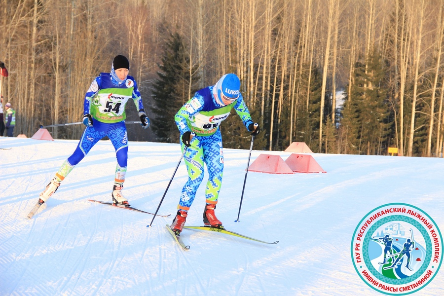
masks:
[[[238,215],[249,150],[224,149],[216,209],[226,229],[266,245],[220,233],[188,230],[182,250],[168,233],[187,179],[179,166],[159,214],[92,203],[111,201],[116,165],[100,141],[43,204],[29,211],[78,141],[0,138],[0,295],[382,295],[364,283],[350,243],[374,208],[407,203],[444,230],[442,158],[312,153],[319,174],[249,172]],[[10,148],[10,149],[8,149]],[[261,153],[253,150],[252,163]],[[130,142],[123,194],[155,212],[181,157],[179,144]],[[200,226],[205,183],[186,225]],[[444,295],[444,270],[415,295]]]

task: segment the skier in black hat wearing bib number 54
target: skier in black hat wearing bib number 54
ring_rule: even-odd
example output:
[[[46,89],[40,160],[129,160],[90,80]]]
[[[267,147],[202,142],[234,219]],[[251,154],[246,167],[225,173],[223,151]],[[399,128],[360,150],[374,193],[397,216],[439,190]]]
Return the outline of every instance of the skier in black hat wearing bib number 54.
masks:
[[[112,201],[116,204],[129,205],[121,191],[128,162],[128,135],[124,121],[128,100],[134,101],[142,127],[148,128],[149,119],[145,113],[136,80],[128,73],[128,59],[123,55],[117,55],[112,61],[111,73],[101,73],[93,80],[85,94],[83,104],[83,124],[86,125],[86,129],[74,153],[65,160],[45,190],[40,193],[39,203],[48,200],[74,166],[100,139],[107,136],[114,146],[117,158],[114,185],[111,191]]]

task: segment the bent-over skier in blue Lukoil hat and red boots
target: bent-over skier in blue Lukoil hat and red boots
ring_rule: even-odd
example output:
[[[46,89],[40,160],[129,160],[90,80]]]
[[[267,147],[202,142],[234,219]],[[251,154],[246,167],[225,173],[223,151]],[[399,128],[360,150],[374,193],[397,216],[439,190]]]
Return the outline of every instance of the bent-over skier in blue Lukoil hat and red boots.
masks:
[[[171,224],[176,234],[182,231],[188,210],[193,203],[197,188],[203,181],[204,164],[209,174],[205,189],[206,204],[203,212],[205,225],[223,227],[214,210],[222,185],[223,151],[219,125],[230,114],[237,112],[252,135],[259,134],[259,125],[251,119],[250,112],[240,93],[240,81],[235,74],[225,74],[214,85],[198,90],[177,112],[176,125],[181,133],[181,148],[188,170],[188,180],[182,189],[177,216]]]

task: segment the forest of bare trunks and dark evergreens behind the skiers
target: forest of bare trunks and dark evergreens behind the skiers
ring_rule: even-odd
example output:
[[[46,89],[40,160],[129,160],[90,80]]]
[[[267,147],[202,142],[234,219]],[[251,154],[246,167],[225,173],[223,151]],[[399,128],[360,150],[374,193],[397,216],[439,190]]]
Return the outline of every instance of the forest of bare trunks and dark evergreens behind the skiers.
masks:
[[[261,126],[255,149],[443,150],[444,0],[0,0],[0,13],[15,134],[79,122],[90,83],[123,54],[152,119],[149,132],[128,125],[131,141],[178,143],[176,111],[236,73]],[[249,148],[235,113],[221,130],[224,147]]]

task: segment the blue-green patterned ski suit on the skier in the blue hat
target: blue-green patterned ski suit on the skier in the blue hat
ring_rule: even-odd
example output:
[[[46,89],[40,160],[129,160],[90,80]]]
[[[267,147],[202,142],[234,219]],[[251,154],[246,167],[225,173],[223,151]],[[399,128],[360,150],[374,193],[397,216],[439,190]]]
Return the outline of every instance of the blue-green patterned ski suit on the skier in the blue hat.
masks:
[[[216,86],[203,88],[177,112],[175,116],[181,137],[185,132],[192,132],[190,147],[186,149],[184,159],[188,170],[188,181],[182,189],[178,209],[188,211],[193,203],[197,188],[204,177],[204,164],[209,174],[205,198],[207,204],[218,203],[222,185],[223,151],[222,135],[219,125],[230,114],[231,109],[237,112],[245,127],[253,123],[250,112],[242,95],[229,105],[224,105],[218,95]],[[181,142],[182,151],[185,144]]]

